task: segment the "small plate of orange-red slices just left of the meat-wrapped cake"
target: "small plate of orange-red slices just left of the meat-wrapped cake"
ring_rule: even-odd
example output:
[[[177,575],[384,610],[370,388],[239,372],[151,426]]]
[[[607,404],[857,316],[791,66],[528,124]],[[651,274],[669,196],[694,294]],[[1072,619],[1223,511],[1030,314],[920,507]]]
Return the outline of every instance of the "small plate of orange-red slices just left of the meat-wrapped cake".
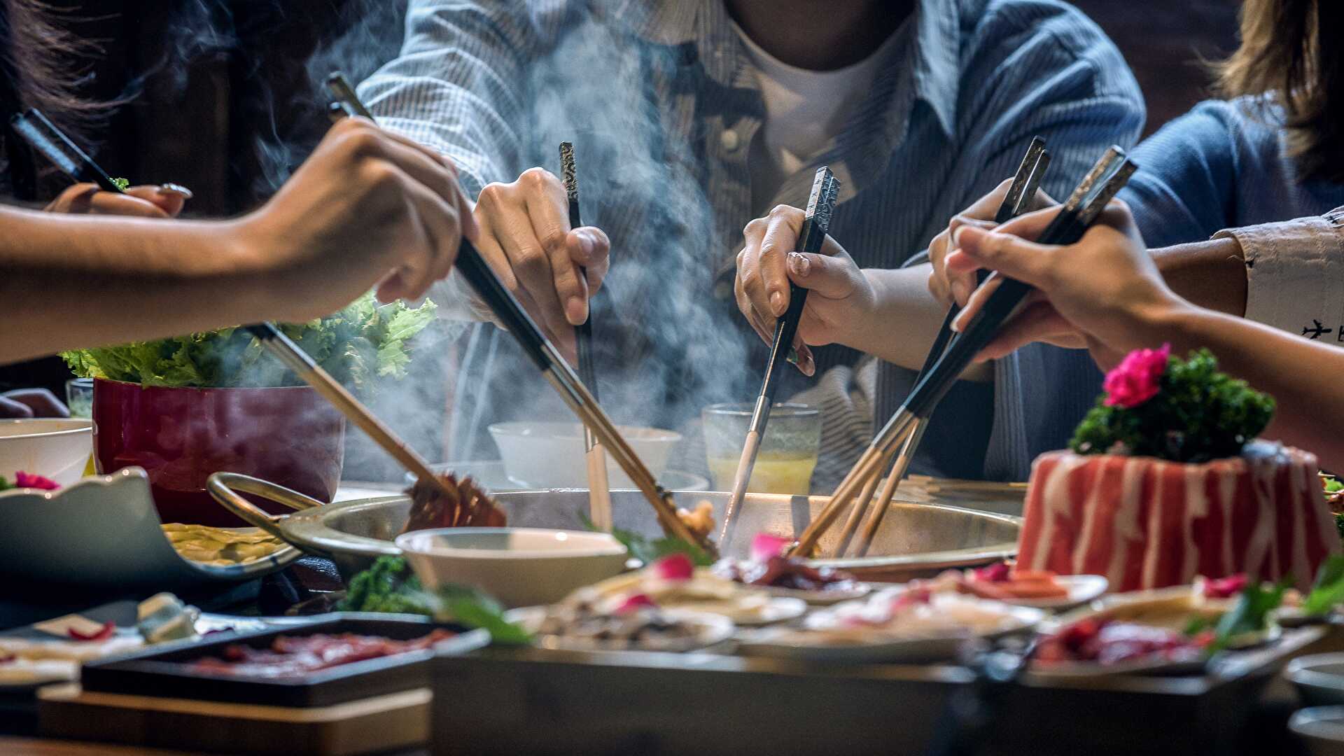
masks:
[[[945,570],[937,577],[911,581],[909,585],[1058,612],[1099,599],[1106,593],[1109,584],[1099,574],[1023,570],[1012,562],[1003,561],[978,569]]]

